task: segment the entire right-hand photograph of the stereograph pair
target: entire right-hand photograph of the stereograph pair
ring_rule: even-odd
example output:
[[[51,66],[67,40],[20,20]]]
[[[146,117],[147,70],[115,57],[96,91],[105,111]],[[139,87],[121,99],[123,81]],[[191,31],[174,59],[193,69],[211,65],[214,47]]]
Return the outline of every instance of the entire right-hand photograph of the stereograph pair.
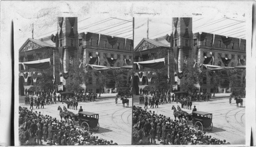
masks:
[[[134,23],[133,144],[245,144],[245,18]]]

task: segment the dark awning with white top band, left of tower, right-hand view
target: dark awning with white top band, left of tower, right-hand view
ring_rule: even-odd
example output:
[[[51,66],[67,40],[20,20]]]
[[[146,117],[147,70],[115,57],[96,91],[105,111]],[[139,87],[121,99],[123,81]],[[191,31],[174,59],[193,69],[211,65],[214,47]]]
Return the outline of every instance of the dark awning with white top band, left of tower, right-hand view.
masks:
[[[138,66],[141,65],[147,68],[152,68],[152,69],[161,69],[165,64],[165,61],[164,61],[164,58],[159,58],[156,60],[134,62],[134,64],[137,64]]]

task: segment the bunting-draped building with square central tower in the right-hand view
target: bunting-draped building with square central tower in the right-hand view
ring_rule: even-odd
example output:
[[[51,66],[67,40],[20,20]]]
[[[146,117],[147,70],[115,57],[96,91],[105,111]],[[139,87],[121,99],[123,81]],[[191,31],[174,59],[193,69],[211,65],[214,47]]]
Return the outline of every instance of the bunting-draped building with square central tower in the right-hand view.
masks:
[[[134,59],[140,62],[165,57],[165,61],[167,61],[166,59],[169,57],[170,84],[173,84],[176,89],[182,82],[177,73],[183,71],[183,63],[187,57],[193,57],[198,65],[209,64],[227,67],[245,65],[246,40],[204,32],[193,33],[192,18],[177,17],[172,20],[172,33],[156,39],[143,38],[135,47]],[[169,49],[169,56],[167,53],[160,56],[154,54],[153,52],[159,51],[159,48],[163,49],[163,51]],[[152,53],[154,54],[153,57]],[[154,72],[154,69],[137,68],[135,66],[134,71]],[[244,77],[245,72],[241,76],[241,82],[245,81]],[[146,76],[145,80],[147,80]],[[214,89],[210,79],[204,80],[204,84],[201,87],[199,86],[200,91],[213,92]],[[148,85],[151,84],[148,81],[147,83]],[[142,84],[142,82],[138,82],[138,84]],[[223,92],[223,87],[219,86],[218,91]]]

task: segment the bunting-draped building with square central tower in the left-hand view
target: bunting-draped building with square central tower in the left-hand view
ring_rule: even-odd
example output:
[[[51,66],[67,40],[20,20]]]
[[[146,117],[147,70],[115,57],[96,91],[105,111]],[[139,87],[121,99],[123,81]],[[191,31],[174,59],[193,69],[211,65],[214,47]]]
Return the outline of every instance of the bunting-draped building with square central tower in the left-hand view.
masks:
[[[58,17],[56,35],[41,39],[28,39],[19,49],[19,62],[35,61],[33,54],[44,52],[46,49],[55,50],[56,84],[66,85],[64,74],[68,73],[69,66],[74,57],[79,57],[86,70],[87,64],[121,67],[133,63],[133,40],[113,37],[91,32],[78,33],[77,17]],[[79,54],[78,56],[76,56]],[[50,56],[53,61],[53,54]],[[52,65],[52,62],[51,62]],[[28,71],[19,67],[20,72]],[[130,80],[128,80],[129,83]],[[112,83],[112,85],[115,83]],[[108,85],[108,84],[107,84]],[[96,79],[90,79],[86,89],[98,92]],[[105,87],[108,89],[108,87]]]

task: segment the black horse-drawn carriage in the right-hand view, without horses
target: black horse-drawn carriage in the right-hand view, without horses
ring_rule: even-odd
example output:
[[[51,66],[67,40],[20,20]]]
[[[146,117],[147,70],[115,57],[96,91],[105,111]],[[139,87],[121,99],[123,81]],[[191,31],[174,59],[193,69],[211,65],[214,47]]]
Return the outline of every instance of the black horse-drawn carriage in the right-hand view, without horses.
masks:
[[[210,131],[213,127],[212,124],[212,113],[203,112],[203,111],[193,111],[188,115],[188,121],[192,121],[194,127],[197,130],[206,129]]]

